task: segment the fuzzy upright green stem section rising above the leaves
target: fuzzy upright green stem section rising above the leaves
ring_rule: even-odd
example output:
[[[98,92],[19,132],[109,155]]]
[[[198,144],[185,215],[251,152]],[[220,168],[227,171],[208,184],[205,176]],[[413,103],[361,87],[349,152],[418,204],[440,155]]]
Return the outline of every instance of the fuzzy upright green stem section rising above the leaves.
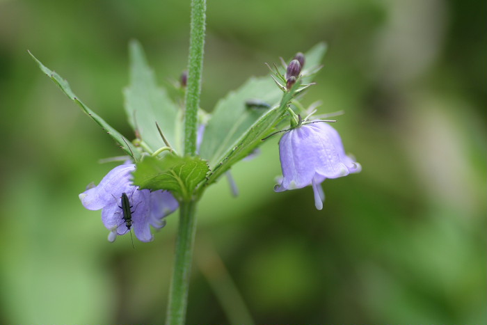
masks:
[[[189,40],[188,83],[184,97],[184,154],[196,152],[198,108],[200,106],[203,47],[205,45],[206,0],[191,0],[191,36]]]

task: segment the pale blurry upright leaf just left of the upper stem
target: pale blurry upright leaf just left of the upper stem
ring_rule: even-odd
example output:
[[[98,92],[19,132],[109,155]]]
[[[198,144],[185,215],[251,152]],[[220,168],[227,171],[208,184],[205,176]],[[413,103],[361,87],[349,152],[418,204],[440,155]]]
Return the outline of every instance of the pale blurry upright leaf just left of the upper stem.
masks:
[[[166,89],[157,86],[154,72],[147,65],[141,45],[133,40],[129,45],[130,85],[125,88],[125,111],[130,125],[142,140],[155,151],[165,144],[157,131],[156,122],[170,145],[182,148],[182,116],[170,100]]]

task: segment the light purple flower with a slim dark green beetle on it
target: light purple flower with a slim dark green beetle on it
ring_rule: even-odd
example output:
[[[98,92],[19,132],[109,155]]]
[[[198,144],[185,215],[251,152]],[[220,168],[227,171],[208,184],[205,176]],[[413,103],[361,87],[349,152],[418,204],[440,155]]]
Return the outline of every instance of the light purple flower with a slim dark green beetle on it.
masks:
[[[163,219],[178,207],[177,200],[168,191],[139,190],[131,184],[131,172],[134,164],[124,164],[113,168],[97,187],[79,194],[79,199],[86,209],[102,209],[102,221],[110,230],[109,241],[117,235],[125,235],[131,228],[140,241],[152,241],[150,225],[162,228],[166,225]],[[123,219],[122,193],[126,193],[131,205],[131,226]]]

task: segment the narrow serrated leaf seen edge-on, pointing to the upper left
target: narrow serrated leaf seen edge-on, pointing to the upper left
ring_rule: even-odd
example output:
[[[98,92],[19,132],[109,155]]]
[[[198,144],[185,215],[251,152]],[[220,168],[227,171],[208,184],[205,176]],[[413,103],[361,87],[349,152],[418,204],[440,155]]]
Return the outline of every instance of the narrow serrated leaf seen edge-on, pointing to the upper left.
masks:
[[[33,54],[29,51],[29,54],[31,54],[32,58],[35,60],[35,62],[38,63],[40,70],[47,74],[47,77],[51,78],[54,83],[56,83],[61,90],[67,95],[67,97],[70,97],[71,100],[76,102],[80,107],[83,112],[88,114],[92,120],[97,122],[97,124],[108,133],[115,142],[120,145],[120,148],[122,150],[125,150],[127,154],[130,154],[131,157],[133,157],[136,161],[141,158],[141,152],[138,151],[138,149],[129,141],[125,140],[125,138],[120,134],[117,130],[113,129],[107,122],[105,122],[102,118],[100,118],[95,112],[93,112],[88,106],[86,106],[79,98],[77,95],[74,95],[72,92],[70,85],[67,83],[65,79],[63,79],[59,74],[57,74],[54,71],[49,70],[45,65],[43,65]]]

